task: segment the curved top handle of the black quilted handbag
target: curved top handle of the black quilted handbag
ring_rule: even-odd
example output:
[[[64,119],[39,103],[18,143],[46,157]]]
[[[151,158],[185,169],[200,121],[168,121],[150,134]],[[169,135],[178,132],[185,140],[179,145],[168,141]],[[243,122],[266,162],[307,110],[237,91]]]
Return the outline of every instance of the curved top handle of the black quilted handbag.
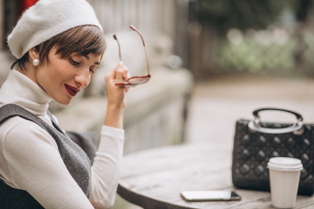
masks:
[[[291,126],[285,127],[285,128],[265,128],[262,127],[261,122],[259,120],[259,112],[264,110],[278,110],[278,111],[284,111],[291,113],[295,115],[297,121],[293,123]],[[248,128],[252,132],[261,132],[261,133],[270,133],[270,134],[279,134],[279,133],[291,133],[293,132],[296,135],[301,135],[304,132],[303,128],[303,118],[299,113],[285,110],[285,109],[278,109],[278,108],[261,108],[253,111],[253,115],[255,117],[254,121],[250,121],[248,123]]]

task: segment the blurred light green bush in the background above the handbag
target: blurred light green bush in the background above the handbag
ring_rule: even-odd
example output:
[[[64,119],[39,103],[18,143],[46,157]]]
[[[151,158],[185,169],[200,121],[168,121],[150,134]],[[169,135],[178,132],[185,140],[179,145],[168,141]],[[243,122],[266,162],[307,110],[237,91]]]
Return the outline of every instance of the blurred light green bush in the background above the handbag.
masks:
[[[225,42],[217,61],[224,72],[289,74],[295,68],[291,59],[294,45],[292,40],[282,45],[261,45],[247,41],[235,45]]]

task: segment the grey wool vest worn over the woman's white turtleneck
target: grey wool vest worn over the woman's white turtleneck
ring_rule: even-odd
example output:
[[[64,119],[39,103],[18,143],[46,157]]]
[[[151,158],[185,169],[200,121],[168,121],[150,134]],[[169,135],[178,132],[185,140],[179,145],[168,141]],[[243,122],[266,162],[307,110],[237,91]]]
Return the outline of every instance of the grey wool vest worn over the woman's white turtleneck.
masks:
[[[53,120],[55,128],[18,105],[7,104],[0,107],[0,125],[14,116],[33,121],[50,133],[58,145],[60,155],[70,174],[86,196],[89,197],[91,187],[91,163],[86,153],[65,135]],[[15,189],[0,179],[0,208],[37,209],[44,207],[27,191]]]

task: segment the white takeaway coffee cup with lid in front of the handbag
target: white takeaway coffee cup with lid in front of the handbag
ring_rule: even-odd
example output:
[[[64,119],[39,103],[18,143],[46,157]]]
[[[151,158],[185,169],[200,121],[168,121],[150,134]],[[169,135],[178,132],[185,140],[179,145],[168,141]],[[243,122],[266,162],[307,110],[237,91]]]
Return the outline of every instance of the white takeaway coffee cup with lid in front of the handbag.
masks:
[[[272,157],[267,163],[269,169],[270,196],[272,205],[278,208],[291,208],[295,205],[301,160],[291,157]]]

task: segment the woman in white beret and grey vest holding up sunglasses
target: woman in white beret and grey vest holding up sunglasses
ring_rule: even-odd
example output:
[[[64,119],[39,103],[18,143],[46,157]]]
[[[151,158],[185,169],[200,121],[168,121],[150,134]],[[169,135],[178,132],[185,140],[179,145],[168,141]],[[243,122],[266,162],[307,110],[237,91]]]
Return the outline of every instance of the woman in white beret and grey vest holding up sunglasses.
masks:
[[[8,45],[18,60],[0,89],[0,115],[22,113],[0,123],[0,207],[110,208],[124,141],[127,89],[115,85],[129,78],[123,63],[105,76],[108,105],[92,166],[47,114],[51,100],[69,105],[100,64],[106,42],[92,7],[85,0],[40,0]]]

